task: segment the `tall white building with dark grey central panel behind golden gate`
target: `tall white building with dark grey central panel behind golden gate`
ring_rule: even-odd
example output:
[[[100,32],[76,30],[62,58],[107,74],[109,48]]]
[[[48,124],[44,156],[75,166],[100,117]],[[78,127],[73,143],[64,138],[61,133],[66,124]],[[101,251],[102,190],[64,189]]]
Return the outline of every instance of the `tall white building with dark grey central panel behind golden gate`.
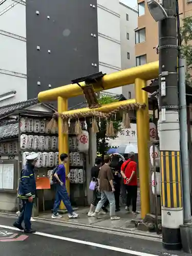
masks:
[[[35,98],[81,76],[121,70],[121,55],[132,52],[126,33],[131,44],[136,15],[118,0],[0,1],[0,106]],[[123,34],[123,53],[122,18],[130,26]],[[125,62],[122,68],[132,59]],[[113,93],[121,94],[122,88]],[[81,101],[70,99],[69,105]]]

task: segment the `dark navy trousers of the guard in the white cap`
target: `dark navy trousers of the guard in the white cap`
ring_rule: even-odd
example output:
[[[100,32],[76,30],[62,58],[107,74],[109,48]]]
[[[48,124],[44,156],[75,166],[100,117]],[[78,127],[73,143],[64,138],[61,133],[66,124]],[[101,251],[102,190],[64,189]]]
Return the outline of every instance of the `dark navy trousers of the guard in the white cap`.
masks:
[[[25,229],[30,230],[33,202],[30,203],[28,200],[22,200],[22,204],[23,204],[22,211],[20,212],[17,223],[22,225],[22,222],[24,221]]]

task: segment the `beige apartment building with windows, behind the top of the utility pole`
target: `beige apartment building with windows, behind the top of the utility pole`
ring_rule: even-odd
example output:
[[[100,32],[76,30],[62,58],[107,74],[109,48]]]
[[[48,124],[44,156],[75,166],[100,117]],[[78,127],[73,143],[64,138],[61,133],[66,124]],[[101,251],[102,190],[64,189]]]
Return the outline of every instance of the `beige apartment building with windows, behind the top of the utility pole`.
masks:
[[[136,66],[158,60],[156,48],[158,45],[158,23],[155,22],[147,4],[138,0],[138,28],[135,30]],[[179,0],[181,22],[184,17],[192,15],[192,0]]]

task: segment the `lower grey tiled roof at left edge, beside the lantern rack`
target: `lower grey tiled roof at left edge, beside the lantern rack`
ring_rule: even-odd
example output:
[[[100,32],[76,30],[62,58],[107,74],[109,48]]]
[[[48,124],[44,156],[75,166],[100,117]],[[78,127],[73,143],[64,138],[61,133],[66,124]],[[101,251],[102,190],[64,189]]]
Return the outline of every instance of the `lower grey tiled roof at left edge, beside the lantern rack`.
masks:
[[[0,126],[0,140],[11,139],[18,136],[18,122]]]

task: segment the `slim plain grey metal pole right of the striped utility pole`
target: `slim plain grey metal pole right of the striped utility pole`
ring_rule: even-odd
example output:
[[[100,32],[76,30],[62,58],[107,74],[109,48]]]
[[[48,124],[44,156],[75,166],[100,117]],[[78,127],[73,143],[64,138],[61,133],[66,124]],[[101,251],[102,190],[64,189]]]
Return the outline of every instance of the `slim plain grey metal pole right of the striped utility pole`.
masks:
[[[190,175],[188,157],[188,134],[187,134],[187,110],[186,110],[186,88],[185,88],[186,60],[179,59],[179,121],[180,121],[180,145],[182,166],[182,188],[183,188],[183,212],[184,222],[191,222],[190,214]]]

